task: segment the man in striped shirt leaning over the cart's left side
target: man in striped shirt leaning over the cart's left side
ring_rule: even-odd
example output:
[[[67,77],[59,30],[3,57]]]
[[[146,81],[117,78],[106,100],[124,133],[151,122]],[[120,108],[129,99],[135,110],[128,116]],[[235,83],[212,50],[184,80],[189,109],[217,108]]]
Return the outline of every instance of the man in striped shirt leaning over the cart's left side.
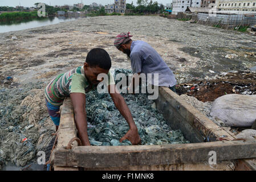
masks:
[[[56,130],[58,130],[60,121],[59,107],[63,104],[64,98],[70,96],[74,107],[78,136],[84,146],[90,145],[85,109],[86,93],[95,89],[97,84],[103,81],[103,79],[97,80],[97,76],[100,73],[105,73],[108,75],[108,92],[116,108],[123,115],[130,128],[124,137],[120,139],[120,142],[128,139],[132,144],[141,143],[141,138],[133,121],[131,111],[125,103],[124,98],[115,88],[115,81],[109,72],[110,68],[111,59],[107,51],[101,48],[94,48],[88,53],[86,63],[82,67],[60,74],[47,85],[45,89],[46,106],[52,121],[56,125]],[[110,90],[114,90],[115,92],[112,93]]]

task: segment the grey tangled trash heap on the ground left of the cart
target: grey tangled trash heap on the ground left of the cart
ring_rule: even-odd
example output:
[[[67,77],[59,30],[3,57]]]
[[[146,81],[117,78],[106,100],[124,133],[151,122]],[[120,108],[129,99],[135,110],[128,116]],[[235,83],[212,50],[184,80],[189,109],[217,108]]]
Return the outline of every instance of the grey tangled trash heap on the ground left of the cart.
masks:
[[[48,146],[54,130],[43,88],[43,82],[0,88],[0,170],[7,161],[25,166]]]

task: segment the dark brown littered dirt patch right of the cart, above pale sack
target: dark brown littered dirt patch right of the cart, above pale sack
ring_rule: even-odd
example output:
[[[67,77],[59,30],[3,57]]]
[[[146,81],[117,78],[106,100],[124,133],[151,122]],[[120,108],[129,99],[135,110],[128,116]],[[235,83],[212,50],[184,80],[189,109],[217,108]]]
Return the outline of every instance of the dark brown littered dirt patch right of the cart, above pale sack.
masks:
[[[211,80],[193,80],[176,86],[178,94],[196,97],[202,102],[214,101],[225,94],[256,94],[256,73],[226,73]]]

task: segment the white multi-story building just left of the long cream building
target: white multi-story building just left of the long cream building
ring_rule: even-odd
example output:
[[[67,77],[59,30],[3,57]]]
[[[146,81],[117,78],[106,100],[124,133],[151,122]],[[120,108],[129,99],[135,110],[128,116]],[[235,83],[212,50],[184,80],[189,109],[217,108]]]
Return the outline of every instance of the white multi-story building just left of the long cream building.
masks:
[[[173,0],[172,14],[185,12],[188,7],[201,7],[201,0]]]

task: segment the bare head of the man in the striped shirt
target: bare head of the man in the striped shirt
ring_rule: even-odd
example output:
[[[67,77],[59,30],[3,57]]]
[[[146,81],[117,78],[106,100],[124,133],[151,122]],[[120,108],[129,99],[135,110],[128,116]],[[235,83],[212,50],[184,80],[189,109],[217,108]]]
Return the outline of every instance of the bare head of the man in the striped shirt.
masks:
[[[84,63],[84,75],[91,84],[99,84],[102,80],[97,80],[100,73],[108,74],[111,68],[111,59],[104,49],[94,48],[88,52],[86,63]]]

